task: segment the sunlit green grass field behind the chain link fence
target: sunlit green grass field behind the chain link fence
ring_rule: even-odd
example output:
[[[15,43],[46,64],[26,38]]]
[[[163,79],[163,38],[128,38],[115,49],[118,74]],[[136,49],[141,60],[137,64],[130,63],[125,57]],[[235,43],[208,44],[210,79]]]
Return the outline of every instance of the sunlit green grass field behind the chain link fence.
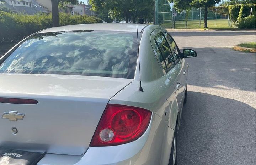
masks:
[[[199,20],[189,20],[187,23],[188,29],[196,29],[199,28]],[[208,20],[207,21],[208,28],[216,28],[216,29],[224,29],[224,28],[230,28],[228,27],[228,19],[217,19],[216,20],[216,26],[214,27],[214,20]],[[161,24],[161,26],[165,28],[172,28],[171,23],[164,23]],[[201,20],[201,28],[204,26],[204,20]],[[175,22],[175,29],[184,29],[185,28],[185,21],[176,21]]]

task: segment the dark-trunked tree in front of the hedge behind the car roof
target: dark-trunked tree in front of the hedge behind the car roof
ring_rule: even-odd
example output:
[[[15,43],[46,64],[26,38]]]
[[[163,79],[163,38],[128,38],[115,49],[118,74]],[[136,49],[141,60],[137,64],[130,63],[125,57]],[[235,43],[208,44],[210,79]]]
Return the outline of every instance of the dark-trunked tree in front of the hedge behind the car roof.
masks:
[[[52,20],[53,27],[59,26],[59,2],[60,4],[68,2],[70,4],[78,4],[78,0],[51,0],[52,1]]]

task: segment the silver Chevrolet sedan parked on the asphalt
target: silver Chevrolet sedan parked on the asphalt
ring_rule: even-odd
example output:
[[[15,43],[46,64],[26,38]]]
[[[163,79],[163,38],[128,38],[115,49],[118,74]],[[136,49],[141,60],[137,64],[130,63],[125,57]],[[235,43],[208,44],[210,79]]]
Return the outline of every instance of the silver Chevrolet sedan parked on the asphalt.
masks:
[[[0,150],[44,153],[37,165],[175,165],[196,56],[157,25],[32,34],[0,58]]]

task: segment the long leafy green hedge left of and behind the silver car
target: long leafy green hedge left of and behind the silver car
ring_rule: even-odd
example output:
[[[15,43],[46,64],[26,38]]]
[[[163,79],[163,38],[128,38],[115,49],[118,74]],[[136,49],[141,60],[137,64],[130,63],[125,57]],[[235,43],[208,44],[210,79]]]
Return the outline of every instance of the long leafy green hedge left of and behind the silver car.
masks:
[[[68,15],[59,13],[60,26],[102,23],[100,18],[87,15]],[[2,42],[18,42],[39,30],[52,27],[52,15],[23,15],[0,11],[0,44]]]

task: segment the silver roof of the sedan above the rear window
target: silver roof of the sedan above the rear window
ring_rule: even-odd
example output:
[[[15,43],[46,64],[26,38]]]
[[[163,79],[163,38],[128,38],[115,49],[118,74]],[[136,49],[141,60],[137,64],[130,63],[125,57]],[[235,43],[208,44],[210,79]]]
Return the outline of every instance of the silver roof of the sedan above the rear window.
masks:
[[[138,24],[138,32],[142,32],[143,28],[148,25]],[[82,31],[82,30],[109,30],[109,31],[124,31],[124,32],[137,32],[135,23],[95,23],[95,24],[80,24],[80,25],[69,25],[69,26],[60,26],[53,27],[41,30],[38,33],[47,33],[47,32],[62,32],[62,31]]]

